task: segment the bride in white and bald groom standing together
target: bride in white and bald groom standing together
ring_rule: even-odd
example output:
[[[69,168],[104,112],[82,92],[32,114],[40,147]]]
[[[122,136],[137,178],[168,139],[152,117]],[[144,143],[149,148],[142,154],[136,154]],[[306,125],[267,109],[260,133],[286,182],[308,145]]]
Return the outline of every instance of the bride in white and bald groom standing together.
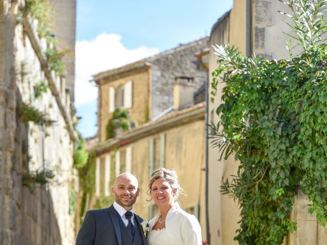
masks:
[[[149,193],[159,212],[149,224],[133,212],[139,192],[135,176],[119,175],[111,191],[115,202],[86,213],[76,245],[202,245],[198,220],[177,203],[182,188],[175,170],[160,167],[151,175]]]

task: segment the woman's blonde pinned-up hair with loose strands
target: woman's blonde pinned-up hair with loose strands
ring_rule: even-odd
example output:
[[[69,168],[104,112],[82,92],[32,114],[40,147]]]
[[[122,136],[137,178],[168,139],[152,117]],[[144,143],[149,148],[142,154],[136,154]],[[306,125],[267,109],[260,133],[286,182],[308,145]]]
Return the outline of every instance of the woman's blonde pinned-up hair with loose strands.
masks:
[[[175,201],[177,201],[177,198],[179,196],[179,194],[184,194],[184,190],[182,187],[180,187],[179,183],[178,183],[178,176],[177,173],[174,169],[168,169],[165,167],[159,167],[156,170],[153,171],[152,175],[151,175],[151,179],[150,179],[150,183],[149,183],[149,189],[147,191],[148,195],[150,195],[151,197],[151,186],[153,184],[154,181],[158,180],[158,179],[165,179],[168,181],[170,187],[174,190],[177,189],[176,194],[175,194]],[[152,200],[152,197],[150,198],[150,200],[147,200],[148,202],[150,202]]]

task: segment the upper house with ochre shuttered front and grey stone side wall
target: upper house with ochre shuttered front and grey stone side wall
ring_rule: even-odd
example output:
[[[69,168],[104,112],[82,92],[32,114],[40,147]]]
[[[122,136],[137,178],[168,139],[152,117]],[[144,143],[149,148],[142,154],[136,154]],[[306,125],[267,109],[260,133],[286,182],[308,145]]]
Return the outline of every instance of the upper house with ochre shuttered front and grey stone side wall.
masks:
[[[195,54],[208,45],[208,38],[202,38],[95,75],[100,142],[106,139],[106,125],[115,108],[127,109],[143,124],[173,106],[174,84],[189,85],[195,91],[203,87],[207,72],[199,70]]]

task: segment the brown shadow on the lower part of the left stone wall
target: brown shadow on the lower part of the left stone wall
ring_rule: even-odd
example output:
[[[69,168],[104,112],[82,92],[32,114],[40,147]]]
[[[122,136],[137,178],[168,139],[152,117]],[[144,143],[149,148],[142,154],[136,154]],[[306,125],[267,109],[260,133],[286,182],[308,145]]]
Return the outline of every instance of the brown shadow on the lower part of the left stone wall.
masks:
[[[19,92],[16,93],[17,105],[21,102]],[[12,155],[13,189],[11,205],[11,223],[15,236],[12,244],[56,244],[61,245],[60,230],[54,212],[49,189],[37,185],[32,192],[23,185],[22,176],[29,170],[27,124],[20,122],[16,110],[15,148]]]

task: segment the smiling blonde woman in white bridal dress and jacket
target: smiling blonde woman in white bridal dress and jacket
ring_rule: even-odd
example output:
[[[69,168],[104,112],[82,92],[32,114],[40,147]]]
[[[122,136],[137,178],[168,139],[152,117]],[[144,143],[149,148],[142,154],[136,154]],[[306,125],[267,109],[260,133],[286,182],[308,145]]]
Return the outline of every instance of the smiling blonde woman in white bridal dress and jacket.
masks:
[[[176,171],[156,169],[151,175],[149,191],[159,213],[149,222],[148,244],[202,245],[197,218],[183,211],[177,203],[182,188]]]

